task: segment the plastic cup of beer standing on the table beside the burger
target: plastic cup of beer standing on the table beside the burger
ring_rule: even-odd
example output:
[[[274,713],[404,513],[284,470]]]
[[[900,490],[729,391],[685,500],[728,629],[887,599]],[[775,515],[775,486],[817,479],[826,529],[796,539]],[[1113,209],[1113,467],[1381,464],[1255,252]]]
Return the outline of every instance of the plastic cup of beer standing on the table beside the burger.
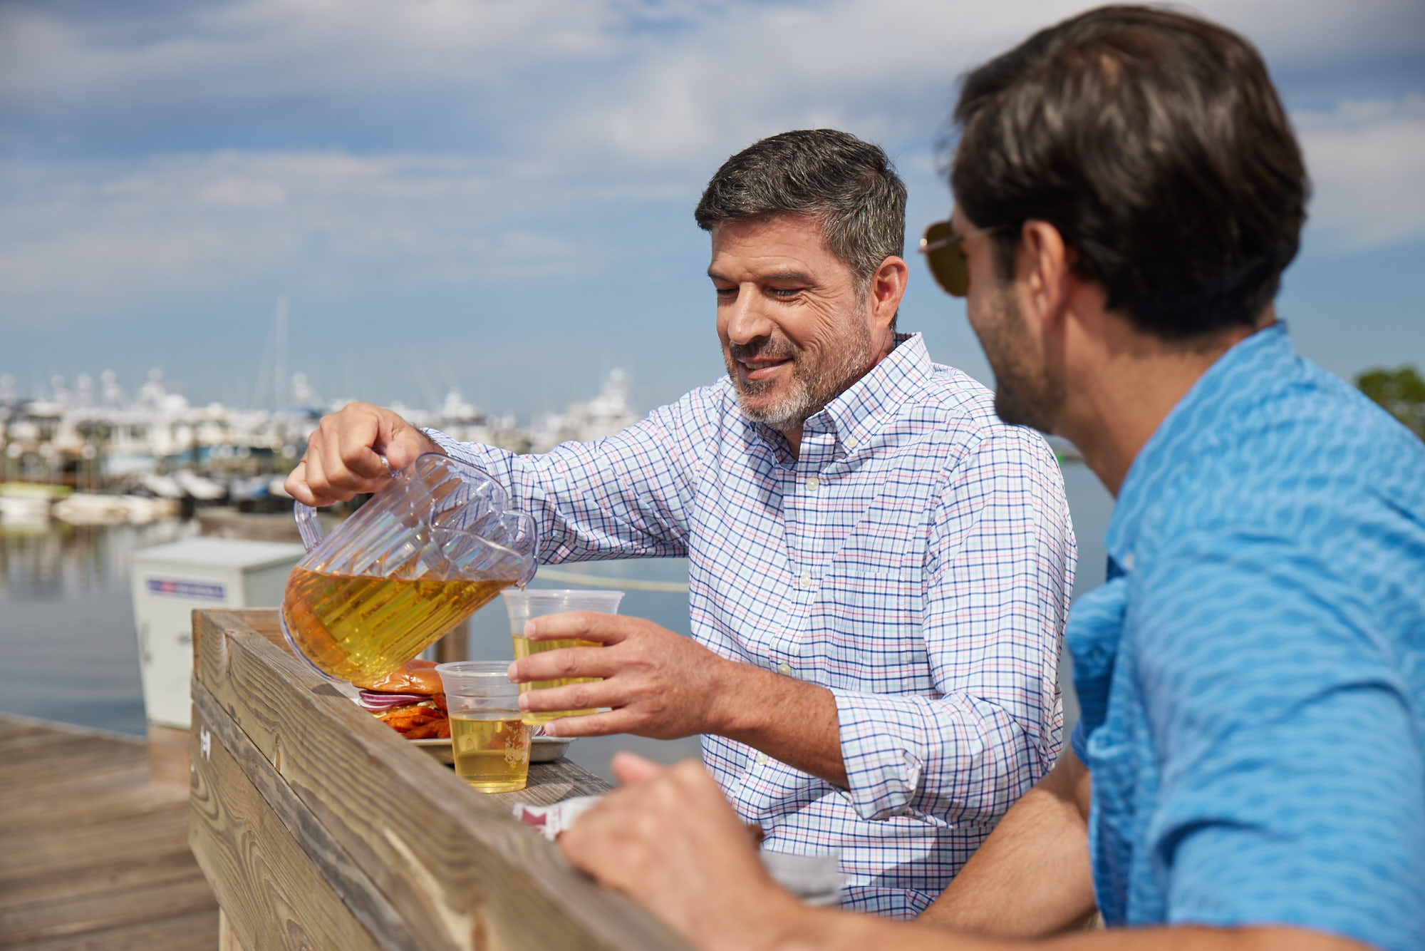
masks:
[[[530,733],[507,660],[436,664],[450,711],[455,774],[482,793],[522,790],[530,774]]]

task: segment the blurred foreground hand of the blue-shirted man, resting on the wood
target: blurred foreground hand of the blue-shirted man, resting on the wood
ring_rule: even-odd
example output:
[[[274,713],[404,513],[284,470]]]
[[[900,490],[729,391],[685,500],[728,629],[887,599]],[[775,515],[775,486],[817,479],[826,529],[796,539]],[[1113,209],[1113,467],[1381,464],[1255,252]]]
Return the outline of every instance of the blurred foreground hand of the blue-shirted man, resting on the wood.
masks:
[[[613,767],[623,788],[559,837],[564,857],[697,947],[774,947],[802,905],[762,868],[703,764],[664,768],[618,753]]]

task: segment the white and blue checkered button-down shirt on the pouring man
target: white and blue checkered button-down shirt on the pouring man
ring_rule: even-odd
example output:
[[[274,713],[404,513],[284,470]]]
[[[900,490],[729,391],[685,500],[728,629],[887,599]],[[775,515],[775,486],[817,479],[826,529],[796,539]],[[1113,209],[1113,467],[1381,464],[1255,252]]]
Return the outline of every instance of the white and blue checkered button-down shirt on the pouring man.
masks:
[[[844,907],[911,917],[1059,754],[1076,546],[1035,432],[919,335],[802,428],[792,458],[731,381],[494,473],[546,563],[688,557],[693,636],[832,692],[849,790],[717,736],[703,759],[774,851],[839,850]]]

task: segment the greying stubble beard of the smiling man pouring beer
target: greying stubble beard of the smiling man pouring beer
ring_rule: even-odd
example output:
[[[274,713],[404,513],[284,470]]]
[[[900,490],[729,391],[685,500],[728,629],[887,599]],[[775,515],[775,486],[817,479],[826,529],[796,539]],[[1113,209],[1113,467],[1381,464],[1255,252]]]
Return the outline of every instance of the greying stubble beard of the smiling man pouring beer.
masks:
[[[761,394],[777,386],[777,381],[747,381],[738,375],[738,356],[771,356],[789,359],[792,379],[785,396],[772,402],[757,401]],[[751,419],[779,432],[794,429],[821,412],[826,403],[846,392],[871,366],[871,328],[854,322],[846,334],[828,341],[821,359],[812,359],[785,336],[762,338],[751,345],[734,344],[724,351],[727,375],[737,391],[737,405]]]

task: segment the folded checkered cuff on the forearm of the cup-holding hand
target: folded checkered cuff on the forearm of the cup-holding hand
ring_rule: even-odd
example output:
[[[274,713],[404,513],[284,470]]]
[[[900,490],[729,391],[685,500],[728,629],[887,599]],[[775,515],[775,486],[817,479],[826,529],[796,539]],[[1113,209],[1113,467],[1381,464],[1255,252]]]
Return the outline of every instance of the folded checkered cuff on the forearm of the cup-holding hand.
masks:
[[[851,800],[856,814],[866,820],[912,816],[948,826],[915,807],[931,739],[929,700],[846,690],[831,694],[836,699],[841,761],[846,770],[848,788],[841,794]]]

